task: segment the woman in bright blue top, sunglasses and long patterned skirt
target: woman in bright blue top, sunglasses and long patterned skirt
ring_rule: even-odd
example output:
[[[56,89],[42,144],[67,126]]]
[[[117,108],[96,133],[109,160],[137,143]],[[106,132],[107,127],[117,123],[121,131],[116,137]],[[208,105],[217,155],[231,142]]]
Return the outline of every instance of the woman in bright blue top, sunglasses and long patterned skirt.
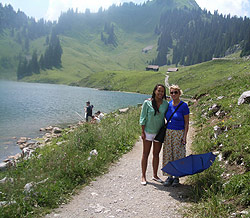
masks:
[[[163,166],[169,161],[181,159],[186,156],[186,142],[189,127],[189,108],[185,102],[180,100],[182,90],[177,85],[169,87],[169,93],[172,100],[169,102],[166,119],[168,120],[179,104],[180,107],[174,113],[169,121],[166,131],[166,137],[163,146]],[[163,173],[163,175],[168,175]],[[164,186],[179,185],[179,178],[168,176],[163,183]]]

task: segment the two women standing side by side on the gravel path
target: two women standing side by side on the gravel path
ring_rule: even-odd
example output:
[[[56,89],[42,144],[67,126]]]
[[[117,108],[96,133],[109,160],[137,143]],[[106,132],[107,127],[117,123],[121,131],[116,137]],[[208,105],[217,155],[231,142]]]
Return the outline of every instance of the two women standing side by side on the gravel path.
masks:
[[[142,126],[143,154],[142,154],[142,180],[141,184],[146,185],[146,169],[148,156],[153,142],[153,180],[163,183],[165,186],[177,186],[179,178],[168,178],[163,182],[158,176],[159,153],[162,147],[161,142],[154,140],[156,134],[165,119],[169,120],[166,130],[166,137],[163,145],[163,166],[169,161],[178,160],[186,156],[186,140],[189,127],[189,108],[185,102],[180,100],[182,91],[177,85],[169,87],[171,101],[168,103],[166,99],[165,86],[158,84],[155,86],[150,100],[143,103],[140,124]],[[180,105],[178,107],[178,105]],[[176,110],[176,108],[178,109]],[[176,111],[175,111],[176,110]],[[164,173],[164,175],[166,175]]]

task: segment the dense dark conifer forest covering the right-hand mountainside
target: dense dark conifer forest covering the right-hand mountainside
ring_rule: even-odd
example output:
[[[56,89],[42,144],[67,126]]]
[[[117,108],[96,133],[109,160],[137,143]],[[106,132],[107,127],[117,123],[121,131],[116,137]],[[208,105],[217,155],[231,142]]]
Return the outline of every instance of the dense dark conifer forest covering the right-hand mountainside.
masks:
[[[224,57],[235,45],[250,54],[250,19],[206,10],[174,9],[155,28],[158,54],[152,64],[193,65]]]

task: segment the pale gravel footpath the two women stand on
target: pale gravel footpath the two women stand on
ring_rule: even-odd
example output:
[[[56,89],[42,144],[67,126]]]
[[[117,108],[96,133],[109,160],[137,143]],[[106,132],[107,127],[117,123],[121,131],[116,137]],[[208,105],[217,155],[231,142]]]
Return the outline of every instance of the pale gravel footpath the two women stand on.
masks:
[[[190,154],[193,136],[194,128],[190,125],[187,154]],[[182,184],[175,188],[152,181],[151,155],[147,171],[148,184],[142,186],[141,154],[142,141],[138,140],[132,151],[110,167],[109,173],[98,177],[73,196],[68,204],[47,214],[45,218],[182,217],[179,209],[188,206],[185,196],[189,187],[183,185],[185,178],[181,178]],[[160,160],[159,168],[161,166]],[[165,179],[160,171],[159,176]]]

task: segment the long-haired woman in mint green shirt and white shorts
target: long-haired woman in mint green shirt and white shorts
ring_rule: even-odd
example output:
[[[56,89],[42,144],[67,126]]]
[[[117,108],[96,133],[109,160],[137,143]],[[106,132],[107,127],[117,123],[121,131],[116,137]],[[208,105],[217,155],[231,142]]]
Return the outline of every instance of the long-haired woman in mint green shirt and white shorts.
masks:
[[[164,125],[164,114],[167,110],[166,88],[164,85],[157,84],[153,90],[152,98],[145,100],[142,105],[140,125],[142,127],[143,153],[141,160],[142,180],[141,184],[146,185],[146,170],[148,156],[153,142],[153,180],[163,182],[158,176],[159,153],[162,143],[155,141],[154,138],[160,128]]]

